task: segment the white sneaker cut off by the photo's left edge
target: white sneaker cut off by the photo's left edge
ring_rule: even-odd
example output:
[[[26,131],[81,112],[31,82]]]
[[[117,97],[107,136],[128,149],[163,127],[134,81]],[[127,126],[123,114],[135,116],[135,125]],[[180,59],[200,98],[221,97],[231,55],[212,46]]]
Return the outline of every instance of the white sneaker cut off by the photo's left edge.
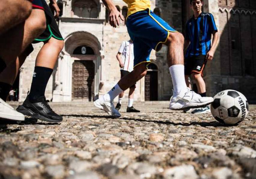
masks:
[[[7,104],[4,100],[0,98],[0,118],[15,120],[15,121],[25,121],[25,117],[22,113],[17,112]]]

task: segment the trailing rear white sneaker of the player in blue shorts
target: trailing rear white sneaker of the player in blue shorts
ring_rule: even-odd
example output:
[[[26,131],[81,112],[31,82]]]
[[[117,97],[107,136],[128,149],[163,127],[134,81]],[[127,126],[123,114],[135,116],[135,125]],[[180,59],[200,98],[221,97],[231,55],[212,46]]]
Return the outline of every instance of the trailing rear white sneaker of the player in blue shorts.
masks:
[[[114,107],[113,101],[105,101],[104,97],[101,96],[99,99],[94,101],[94,106],[98,107],[101,110],[104,110],[108,115],[113,117],[120,117],[121,114]]]

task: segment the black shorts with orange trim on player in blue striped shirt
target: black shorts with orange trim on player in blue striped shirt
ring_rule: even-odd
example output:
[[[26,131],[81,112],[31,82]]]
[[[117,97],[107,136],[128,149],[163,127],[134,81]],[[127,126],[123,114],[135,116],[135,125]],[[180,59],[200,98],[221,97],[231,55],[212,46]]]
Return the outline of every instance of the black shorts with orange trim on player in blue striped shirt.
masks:
[[[185,59],[185,75],[191,73],[201,73],[203,76],[203,69],[206,66],[206,55],[192,56]]]

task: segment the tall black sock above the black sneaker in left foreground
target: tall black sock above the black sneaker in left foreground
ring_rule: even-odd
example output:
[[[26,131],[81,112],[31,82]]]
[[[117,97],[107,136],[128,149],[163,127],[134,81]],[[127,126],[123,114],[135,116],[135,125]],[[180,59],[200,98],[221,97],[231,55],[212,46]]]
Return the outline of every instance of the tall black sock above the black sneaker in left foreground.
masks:
[[[44,96],[46,85],[53,72],[53,69],[36,66],[29,92],[29,100],[36,101],[38,97]]]

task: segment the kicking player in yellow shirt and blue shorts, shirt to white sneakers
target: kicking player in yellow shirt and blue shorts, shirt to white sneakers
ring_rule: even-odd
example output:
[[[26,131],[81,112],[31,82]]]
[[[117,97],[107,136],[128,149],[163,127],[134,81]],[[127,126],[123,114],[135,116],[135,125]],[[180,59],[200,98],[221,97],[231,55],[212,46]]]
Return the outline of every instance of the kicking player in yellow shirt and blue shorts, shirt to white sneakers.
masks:
[[[203,107],[212,103],[212,97],[201,97],[191,91],[185,82],[182,34],[170,27],[163,19],[150,10],[150,0],[123,0],[128,4],[127,29],[134,42],[134,70],[122,78],[107,94],[101,96],[94,105],[110,116],[120,117],[113,99],[132,86],[147,73],[152,49],[159,51],[167,45],[167,64],[173,82],[173,97],[170,109],[184,110]],[[157,84],[155,84],[157,85]]]

